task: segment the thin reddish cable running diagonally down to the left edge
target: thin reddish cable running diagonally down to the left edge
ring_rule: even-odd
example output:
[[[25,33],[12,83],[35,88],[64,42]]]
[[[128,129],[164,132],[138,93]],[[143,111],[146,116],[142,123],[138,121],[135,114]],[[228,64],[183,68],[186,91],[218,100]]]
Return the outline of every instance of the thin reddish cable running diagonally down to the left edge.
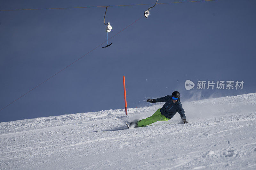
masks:
[[[143,17],[143,16],[142,16]],[[139,19],[137,19],[136,21],[134,21],[132,24],[134,24],[135,22],[139,21],[142,17],[140,17]],[[121,33],[122,31],[124,31],[126,28],[128,28],[129,26],[131,26],[132,24],[126,26],[124,29],[122,29],[121,31],[119,31],[118,33],[116,33],[115,35],[113,35],[112,37],[110,37],[108,40],[110,40],[111,38],[115,37],[117,34]],[[97,47],[93,48],[91,51],[89,51],[88,53],[86,53],[85,55],[89,54],[90,52],[92,52],[93,50],[95,50],[96,48],[100,47],[102,44],[104,44],[106,41],[102,42],[100,45],[98,45]],[[82,57],[78,58],[76,61],[74,61],[73,63],[69,64],[68,66],[66,66],[64,69],[60,70],[59,72],[57,72],[56,74],[54,74],[52,77],[46,79],[44,82],[40,83],[39,85],[37,85],[36,87],[34,87],[33,89],[29,90],[28,92],[26,92],[25,94],[23,94],[22,96],[20,96],[18,99],[12,101],[11,103],[9,103],[7,106],[11,105],[12,103],[14,103],[15,101],[19,100],[20,98],[22,98],[23,96],[25,96],[26,94],[28,94],[29,92],[31,92],[32,90],[36,89],[38,86],[44,84],[46,81],[50,80],[51,78],[53,78],[54,76],[56,76],[57,74],[59,74],[61,71],[65,70],[66,68],[68,68],[69,66],[71,66],[72,64],[76,63],[78,60],[82,59],[85,55],[83,55]],[[1,110],[3,110],[5,107],[1,108]]]

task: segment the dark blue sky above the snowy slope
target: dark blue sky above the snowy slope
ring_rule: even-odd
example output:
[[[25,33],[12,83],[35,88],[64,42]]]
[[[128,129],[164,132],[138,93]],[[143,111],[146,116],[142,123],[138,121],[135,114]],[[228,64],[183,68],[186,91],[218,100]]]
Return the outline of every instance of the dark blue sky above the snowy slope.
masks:
[[[0,2],[0,10],[155,3]],[[158,1],[165,2],[177,1]],[[106,22],[113,27],[109,37],[151,6],[109,7]],[[148,106],[147,98],[176,90],[181,102],[256,92],[255,8],[254,0],[156,5],[148,19],[141,18],[109,40],[110,47],[97,48],[1,110],[0,122],[124,108],[123,76],[128,107]],[[105,7],[0,12],[0,107],[106,41],[104,13]],[[188,79],[243,80],[244,87],[187,91]],[[195,94],[200,96],[192,97]]]

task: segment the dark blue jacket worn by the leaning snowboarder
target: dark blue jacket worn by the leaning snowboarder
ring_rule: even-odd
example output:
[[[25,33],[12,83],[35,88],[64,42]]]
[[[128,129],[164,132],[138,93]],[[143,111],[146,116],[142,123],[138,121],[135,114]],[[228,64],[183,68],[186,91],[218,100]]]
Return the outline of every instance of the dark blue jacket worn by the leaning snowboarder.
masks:
[[[186,119],[185,111],[180,103],[180,99],[173,103],[172,96],[167,95],[165,97],[160,97],[156,99],[156,102],[165,102],[164,106],[161,108],[161,114],[171,119],[177,112],[180,114],[181,119]]]

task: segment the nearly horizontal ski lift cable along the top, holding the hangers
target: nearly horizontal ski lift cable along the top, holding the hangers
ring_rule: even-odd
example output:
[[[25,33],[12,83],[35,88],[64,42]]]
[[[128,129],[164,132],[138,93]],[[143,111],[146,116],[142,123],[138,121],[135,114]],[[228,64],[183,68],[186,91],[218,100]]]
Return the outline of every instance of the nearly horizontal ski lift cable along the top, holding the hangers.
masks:
[[[220,1],[220,0],[201,0],[201,1],[181,1],[181,2],[168,2],[168,3],[158,3],[158,4],[177,4],[177,3],[188,3],[188,2],[207,2],[207,1]],[[154,5],[154,4],[131,4],[131,5],[110,5],[111,7],[120,6],[136,6],[136,5]],[[155,4],[156,5],[156,4]],[[109,7],[110,7],[109,6]],[[14,10],[0,10],[0,12],[5,11],[27,11],[27,10],[64,10],[64,9],[79,9],[79,8],[100,8],[106,6],[83,6],[83,7],[67,7],[67,8],[35,8],[35,9],[14,9]]]

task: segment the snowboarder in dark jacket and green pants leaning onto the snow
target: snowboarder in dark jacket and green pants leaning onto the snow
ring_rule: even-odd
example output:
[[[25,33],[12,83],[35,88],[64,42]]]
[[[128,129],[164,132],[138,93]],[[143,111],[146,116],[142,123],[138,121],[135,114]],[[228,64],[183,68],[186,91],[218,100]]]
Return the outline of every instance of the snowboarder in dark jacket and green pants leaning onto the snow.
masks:
[[[182,122],[188,123],[186,121],[185,111],[182,108],[182,104],[180,103],[180,92],[175,91],[175,92],[172,92],[172,95],[167,95],[165,97],[160,97],[157,99],[148,99],[147,102],[150,102],[150,103],[165,102],[165,104],[162,108],[156,110],[156,112],[152,116],[146,119],[142,119],[138,122],[132,122],[131,126],[143,127],[157,121],[168,121],[177,112],[180,114]]]

